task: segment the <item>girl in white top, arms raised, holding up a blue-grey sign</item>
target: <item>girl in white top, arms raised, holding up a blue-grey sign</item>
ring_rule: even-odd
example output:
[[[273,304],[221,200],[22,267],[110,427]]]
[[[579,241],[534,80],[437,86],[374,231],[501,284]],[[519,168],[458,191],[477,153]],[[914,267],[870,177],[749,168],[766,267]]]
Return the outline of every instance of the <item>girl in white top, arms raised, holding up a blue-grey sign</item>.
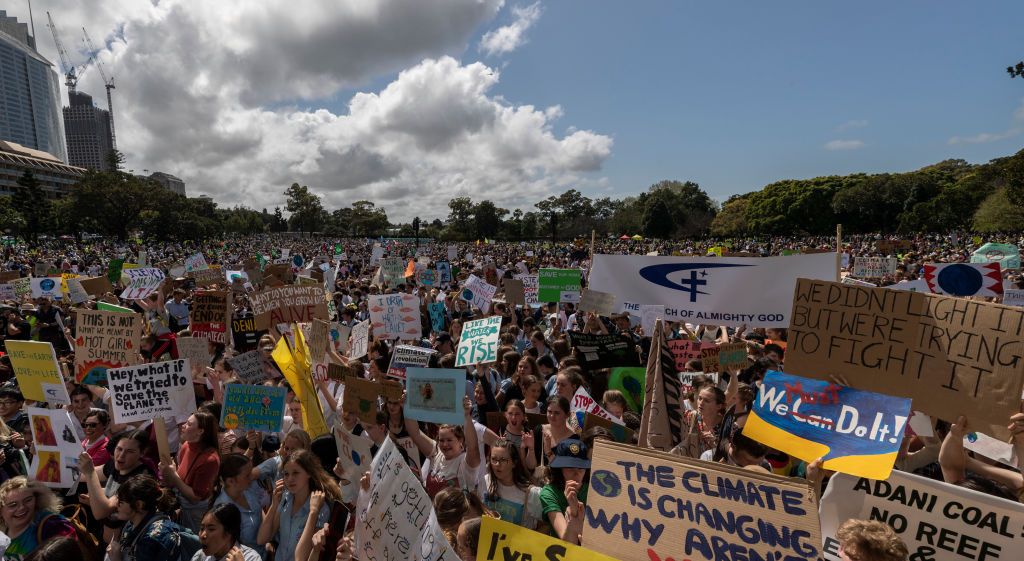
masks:
[[[423,458],[430,462],[424,486],[431,499],[445,487],[466,491],[476,488],[480,448],[473,424],[473,403],[469,397],[464,397],[462,406],[465,414],[463,425],[441,425],[436,441],[423,434],[415,420],[406,419],[406,430]]]

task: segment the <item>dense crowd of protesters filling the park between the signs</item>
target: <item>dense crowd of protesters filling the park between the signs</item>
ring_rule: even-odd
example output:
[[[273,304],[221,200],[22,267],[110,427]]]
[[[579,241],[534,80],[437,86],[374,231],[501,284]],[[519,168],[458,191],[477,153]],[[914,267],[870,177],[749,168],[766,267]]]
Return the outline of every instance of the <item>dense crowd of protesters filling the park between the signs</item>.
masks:
[[[879,242],[907,243],[883,251]],[[986,238],[1020,245],[1024,238]],[[381,398],[376,421],[359,421],[356,412],[342,406],[343,384],[316,380],[326,405],[328,425],[334,432],[367,438],[374,449],[393,440],[432,498],[437,521],[453,548],[464,560],[476,558],[481,517],[502,520],[548,533],[571,544],[581,543],[585,524],[593,442],[609,438],[603,429],[582,431],[570,422],[570,399],[580,387],[601,402],[626,426],[638,429],[641,411],[607,389],[607,372],[587,369],[569,344],[573,331],[616,334],[636,349],[638,363],[646,363],[650,334],[627,314],[598,316],[574,309],[572,304],[541,303],[536,307],[495,302],[484,313],[459,298],[459,288],[469,274],[501,285],[522,270],[541,267],[579,268],[584,284],[591,251],[607,254],[708,255],[709,251],[750,256],[784,252],[835,251],[835,239],[775,238],[761,240],[706,240],[700,242],[590,240],[551,244],[455,244],[451,260],[453,280],[423,286],[415,276],[388,286],[374,264],[374,247],[384,256],[447,261],[453,244],[393,240],[326,240],[317,238],[254,236],[205,245],[142,244],[92,240],[44,241],[29,247],[10,241],[3,247],[0,271],[32,275],[40,264],[59,272],[82,276],[106,275],[110,261],[132,262],[139,252],[151,264],[167,271],[161,289],[144,300],[126,301],[118,279],[114,292],[87,302],[69,298],[0,302],[0,351],[6,341],[34,340],[53,345],[58,360],[68,364],[67,405],[80,430],[83,449],[77,469],[77,488],[55,489],[34,481],[28,466],[34,454],[32,431],[9,357],[0,357],[0,544],[11,561],[194,561],[227,560],[313,561],[357,559],[351,525],[331,528],[334,509],[353,508],[367,481],[349,481],[338,461],[334,434],[309,434],[303,427],[302,405],[289,388],[288,407],[281,432],[227,430],[220,426],[223,385],[238,382],[226,360],[244,350],[237,341],[210,343],[210,363],[194,368],[197,388],[195,411],[167,424],[170,455],[161,455],[153,421],[114,423],[110,392],[99,385],[76,384],[71,375],[77,333],[74,308],[94,308],[96,301],[131,308],[145,317],[145,333],[138,349],[142,361],[177,357],[175,340],[189,335],[188,312],[195,283],[171,274],[175,265],[202,253],[210,265],[225,270],[243,269],[243,262],[259,256],[280,261],[282,250],[303,262],[326,256],[338,271],[330,289],[334,301],[331,317],[352,327],[369,317],[368,298],[378,294],[407,293],[421,303],[423,336],[403,341],[434,349],[431,365],[453,368],[462,327],[488,315],[502,317],[501,346],[493,363],[467,368],[474,383],[473,397],[464,402],[460,425],[417,422],[402,415],[404,397]],[[914,279],[925,262],[969,260],[979,241],[971,234],[943,234],[899,239],[862,235],[843,240],[843,252],[857,256],[897,256],[897,272],[881,284]],[[286,258],[287,261],[287,258]],[[340,262],[339,262],[340,261]],[[428,265],[430,266],[430,265]],[[299,267],[301,269],[301,267]],[[59,273],[58,272],[58,273]],[[296,271],[301,274],[301,270]],[[1018,272],[1007,272],[1008,286],[1022,287]],[[765,283],[772,279],[765,278]],[[214,285],[213,287],[218,288]],[[226,282],[219,288],[230,289]],[[247,287],[262,289],[258,283]],[[234,291],[232,317],[252,316],[249,293]],[[444,328],[435,330],[427,304],[444,304]],[[720,326],[672,323],[672,338],[697,338],[710,342],[743,341],[749,364],[724,373],[719,383],[697,377],[685,400],[684,422],[692,438],[676,454],[709,462],[754,467],[777,474],[807,477],[816,484],[828,476],[817,463],[790,458],[745,437],[741,428],[761,378],[769,370],[784,371],[786,333],[782,329],[732,329]],[[276,329],[258,334],[255,347],[268,356],[282,337]],[[351,358],[331,352],[328,359],[344,364],[357,376],[382,380],[388,371],[394,341],[373,338],[368,354]],[[195,366],[195,365],[194,365]],[[686,372],[700,373],[699,359]],[[266,384],[288,386],[272,377]],[[35,403],[35,406],[50,406]],[[487,423],[488,413],[503,414],[498,425]],[[544,422],[531,421],[543,416]],[[998,467],[965,450],[963,436],[969,420],[940,421],[935,437],[907,437],[897,468],[949,483],[1017,501],[1024,499],[1021,472]],[[1024,459],[1024,415],[1008,420],[1014,433],[1017,458]],[[354,493],[354,494],[353,494]],[[344,535],[325,552],[328,536]],[[838,538],[844,559],[896,561],[906,559],[907,549],[886,524],[850,520]],[[602,552],[614,556],[614,552]]]

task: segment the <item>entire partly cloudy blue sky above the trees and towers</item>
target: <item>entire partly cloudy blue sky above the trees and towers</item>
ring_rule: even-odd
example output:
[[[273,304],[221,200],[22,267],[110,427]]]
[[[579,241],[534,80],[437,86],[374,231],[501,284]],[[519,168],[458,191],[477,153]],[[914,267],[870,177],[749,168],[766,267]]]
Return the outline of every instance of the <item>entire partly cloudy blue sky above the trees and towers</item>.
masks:
[[[25,0],[7,3],[28,20]],[[443,219],[663,179],[723,202],[786,178],[983,163],[1024,143],[1024,3],[36,0],[115,77],[127,167],[221,206]],[[101,44],[101,45],[100,45]],[[79,89],[105,106],[98,74]],[[63,92],[67,99],[67,92]]]

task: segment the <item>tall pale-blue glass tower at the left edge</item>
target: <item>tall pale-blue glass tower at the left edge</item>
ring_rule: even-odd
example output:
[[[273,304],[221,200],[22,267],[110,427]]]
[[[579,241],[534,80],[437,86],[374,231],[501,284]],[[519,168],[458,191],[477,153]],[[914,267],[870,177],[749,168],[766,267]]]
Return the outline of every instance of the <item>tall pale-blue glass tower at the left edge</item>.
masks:
[[[0,10],[0,140],[67,164],[59,88],[53,64],[36,51],[28,26]]]

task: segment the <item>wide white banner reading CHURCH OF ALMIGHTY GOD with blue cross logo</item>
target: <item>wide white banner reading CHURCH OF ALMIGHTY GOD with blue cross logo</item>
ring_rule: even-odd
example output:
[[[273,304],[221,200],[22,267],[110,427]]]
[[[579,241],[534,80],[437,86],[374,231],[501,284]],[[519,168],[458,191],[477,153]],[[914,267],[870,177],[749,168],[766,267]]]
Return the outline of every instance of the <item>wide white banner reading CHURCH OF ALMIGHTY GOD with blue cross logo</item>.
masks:
[[[664,304],[665,318],[715,326],[784,328],[797,278],[834,280],[836,254],[788,257],[595,255],[590,288],[618,297],[621,311]]]

